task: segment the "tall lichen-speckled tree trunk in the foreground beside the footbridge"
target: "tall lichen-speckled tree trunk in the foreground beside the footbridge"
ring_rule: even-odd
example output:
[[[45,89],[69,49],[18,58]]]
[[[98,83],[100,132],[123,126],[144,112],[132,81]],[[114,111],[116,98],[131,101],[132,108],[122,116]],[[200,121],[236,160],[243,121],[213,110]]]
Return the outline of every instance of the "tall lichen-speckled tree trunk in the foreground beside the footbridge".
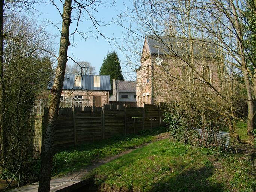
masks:
[[[51,88],[51,101],[48,122],[44,133],[41,149],[41,171],[39,178],[38,192],[49,192],[51,181],[51,166],[54,155],[54,134],[56,119],[59,111],[60,95],[64,81],[65,68],[67,63],[67,52],[69,42],[69,26],[71,23],[72,0],[65,0],[62,13],[62,31],[60,37],[60,48],[58,66],[53,87]]]

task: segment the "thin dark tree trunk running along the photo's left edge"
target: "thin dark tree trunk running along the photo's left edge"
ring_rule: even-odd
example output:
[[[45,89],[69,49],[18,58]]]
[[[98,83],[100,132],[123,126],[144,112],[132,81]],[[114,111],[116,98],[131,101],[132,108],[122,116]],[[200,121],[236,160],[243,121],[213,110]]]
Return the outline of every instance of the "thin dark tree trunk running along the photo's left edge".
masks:
[[[1,142],[0,142],[0,152],[1,153],[1,160],[5,157],[5,150],[6,150],[6,133],[5,127],[3,126],[3,114],[5,109],[5,86],[3,80],[3,5],[4,0],[0,0],[0,134],[1,134]]]

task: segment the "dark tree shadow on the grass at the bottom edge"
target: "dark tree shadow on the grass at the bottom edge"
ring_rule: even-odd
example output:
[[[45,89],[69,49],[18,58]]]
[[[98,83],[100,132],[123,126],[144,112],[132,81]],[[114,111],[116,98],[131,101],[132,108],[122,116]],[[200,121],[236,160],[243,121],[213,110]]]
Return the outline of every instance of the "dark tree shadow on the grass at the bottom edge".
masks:
[[[213,174],[213,167],[181,170],[179,174],[157,181],[150,190],[161,192],[218,192],[223,191],[219,183],[207,180]]]

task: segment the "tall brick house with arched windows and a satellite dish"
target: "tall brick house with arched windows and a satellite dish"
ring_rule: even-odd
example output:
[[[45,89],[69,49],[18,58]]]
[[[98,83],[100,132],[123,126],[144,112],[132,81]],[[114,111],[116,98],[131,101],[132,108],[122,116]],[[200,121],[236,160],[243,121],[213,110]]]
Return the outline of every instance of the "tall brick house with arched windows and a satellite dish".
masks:
[[[145,36],[136,72],[138,106],[177,101],[185,89],[214,94],[207,85],[222,89],[224,74],[214,43],[152,35]]]

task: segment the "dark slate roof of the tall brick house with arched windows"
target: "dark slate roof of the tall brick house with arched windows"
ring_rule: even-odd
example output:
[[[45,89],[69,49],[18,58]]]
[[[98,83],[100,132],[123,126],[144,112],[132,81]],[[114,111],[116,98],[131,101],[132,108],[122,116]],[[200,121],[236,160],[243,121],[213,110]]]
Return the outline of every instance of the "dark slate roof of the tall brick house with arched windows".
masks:
[[[187,55],[190,51],[190,40],[181,37],[146,35],[151,54],[170,54]],[[161,40],[160,40],[161,39]],[[195,57],[212,57],[216,55],[216,46],[214,43],[203,40],[193,40],[193,55]]]

